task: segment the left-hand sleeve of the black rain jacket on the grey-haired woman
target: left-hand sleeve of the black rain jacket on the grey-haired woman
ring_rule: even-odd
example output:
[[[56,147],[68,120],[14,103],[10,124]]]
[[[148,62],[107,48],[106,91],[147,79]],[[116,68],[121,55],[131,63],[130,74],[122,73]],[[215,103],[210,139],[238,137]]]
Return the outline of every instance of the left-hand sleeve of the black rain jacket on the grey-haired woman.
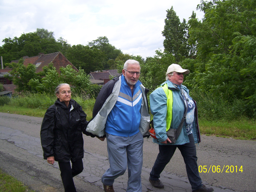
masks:
[[[44,158],[54,156],[53,143],[54,143],[54,117],[55,107],[49,107],[44,114],[44,119],[41,125],[41,145],[44,151]]]

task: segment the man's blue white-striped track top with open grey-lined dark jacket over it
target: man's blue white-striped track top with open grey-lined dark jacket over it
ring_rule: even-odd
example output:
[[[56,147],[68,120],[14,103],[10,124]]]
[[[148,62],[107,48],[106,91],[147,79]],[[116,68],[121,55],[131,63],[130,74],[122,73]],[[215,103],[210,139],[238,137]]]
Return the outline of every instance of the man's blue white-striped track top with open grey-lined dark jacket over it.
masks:
[[[150,115],[146,93],[148,90],[138,81],[134,95],[123,75],[106,83],[93,107],[93,118],[86,131],[102,137],[106,133],[116,136],[133,136],[139,131],[148,135]],[[138,113],[138,111],[140,113]]]

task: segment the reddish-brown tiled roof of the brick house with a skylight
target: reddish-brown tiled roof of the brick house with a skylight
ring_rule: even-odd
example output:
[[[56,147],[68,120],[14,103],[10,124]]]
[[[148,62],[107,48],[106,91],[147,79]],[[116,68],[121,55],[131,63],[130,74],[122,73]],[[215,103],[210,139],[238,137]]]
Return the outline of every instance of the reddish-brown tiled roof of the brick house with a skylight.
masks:
[[[23,56],[23,59],[24,59],[24,62],[23,64],[25,66],[27,66],[29,63],[32,63],[33,65],[36,66],[36,73],[40,72],[40,71],[43,71],[43,67],[44,66],[47,66],[49,65],[51,62],[54,62],[55,58],[61,54],[61,52],[56,52],[56,53],[52,53],[52,54],[42,54],[42,53],[39,53],[38,56],[31,56],[31,57],[28,57],[28,56]],[[64,55],[61,54],[63,57]],[[11,62],[15,62],[15,63],[18,63],[19,60],[14,60],[14,61],[11,61]],[[72,65],[72,63],[70,63]],[[75,66],[73,66],[73,68],[77,70],[77,68]]]

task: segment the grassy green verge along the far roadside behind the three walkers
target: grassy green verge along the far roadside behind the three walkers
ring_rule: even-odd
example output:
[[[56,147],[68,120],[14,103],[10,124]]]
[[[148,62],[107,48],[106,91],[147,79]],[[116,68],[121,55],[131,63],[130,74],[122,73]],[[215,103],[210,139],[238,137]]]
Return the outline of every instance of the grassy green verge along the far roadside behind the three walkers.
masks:
[[[255,119],[239,115],[240,102],[229,105],[221,97],[196,95],[191,96],[198,101],[198,117],[201,134],[207,136],[231,137],[237,139],[255,139]],[[92,118],[95,99],[85,99],[85,96],[72,95],[87,114],[87,121]],[[23,93],[19,96],[0,97],[0,112],[27,116],[44,117],[47,108],[54,104],[56,96],[47,93]]]

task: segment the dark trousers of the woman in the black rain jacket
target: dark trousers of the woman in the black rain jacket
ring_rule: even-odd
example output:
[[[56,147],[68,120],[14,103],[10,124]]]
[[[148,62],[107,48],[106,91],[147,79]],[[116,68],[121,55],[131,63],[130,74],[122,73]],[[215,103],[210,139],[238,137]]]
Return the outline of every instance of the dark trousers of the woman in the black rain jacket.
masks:
[[[76,187],[73,181],[73,177],[81,173],[84,169],[84,164],[82,159],[77,159],[72,161],[72,168],[70,162],[58,162],[59,168],[61,170],[61,179],[64,185],[65,192],[76,192]]]

